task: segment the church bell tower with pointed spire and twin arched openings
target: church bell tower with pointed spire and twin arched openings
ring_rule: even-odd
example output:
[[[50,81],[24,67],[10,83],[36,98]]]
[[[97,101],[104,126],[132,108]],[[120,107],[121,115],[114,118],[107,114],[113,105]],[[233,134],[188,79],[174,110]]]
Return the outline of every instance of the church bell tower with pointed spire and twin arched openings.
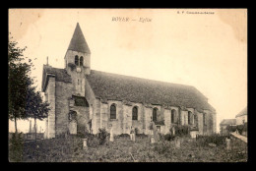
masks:
[[[65,69],[72,78],[74,94],[85,96],[85,77],[91,73],[91,51],[79,24],[75,28],[64,60]]]

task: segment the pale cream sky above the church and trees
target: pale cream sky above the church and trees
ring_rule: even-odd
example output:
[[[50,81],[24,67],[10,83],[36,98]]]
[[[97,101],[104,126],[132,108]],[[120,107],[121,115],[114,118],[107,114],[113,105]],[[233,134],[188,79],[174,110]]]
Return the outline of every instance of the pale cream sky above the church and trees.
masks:
[[[217,131],[247,105],[246,9],[9,9],[9,32],[28,47],[37,90],[46,57],[64,68],[77,23],[91,49],[91,69],[193,85],[216,109]],[[18,121],[22,132],[29,126]]]

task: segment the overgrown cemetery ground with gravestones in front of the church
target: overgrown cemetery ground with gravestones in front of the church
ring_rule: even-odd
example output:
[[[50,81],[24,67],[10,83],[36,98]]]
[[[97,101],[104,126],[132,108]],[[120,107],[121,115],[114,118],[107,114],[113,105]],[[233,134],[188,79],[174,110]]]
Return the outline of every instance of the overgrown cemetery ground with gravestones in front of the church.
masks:
[[[153,128],[156,126],[153,126]],[[184,131],[160,135],[122,134],[104,129],[97,135],[59,136],[37,142],[21,142],[9,160],[22,162],[246,162],[247,143],[231,135],[192,138]],[[156,135],[157,133],[157,135]],[[12,141],[10,141],[12,142]],[[11,143],[12,145],[12,143]],[[20,150],[20,153],[19,153]],[[18,157],[20,156],[20,157]]]

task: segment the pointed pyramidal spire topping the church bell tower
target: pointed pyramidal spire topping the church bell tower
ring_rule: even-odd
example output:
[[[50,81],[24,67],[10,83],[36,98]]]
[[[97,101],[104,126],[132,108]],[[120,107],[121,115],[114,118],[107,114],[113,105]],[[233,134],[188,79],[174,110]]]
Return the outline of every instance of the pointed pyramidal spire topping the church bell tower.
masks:
[[[91,53],[79,23],[77,23],[77,27],[75,28],[73,37],[69,43],[68,50]]]

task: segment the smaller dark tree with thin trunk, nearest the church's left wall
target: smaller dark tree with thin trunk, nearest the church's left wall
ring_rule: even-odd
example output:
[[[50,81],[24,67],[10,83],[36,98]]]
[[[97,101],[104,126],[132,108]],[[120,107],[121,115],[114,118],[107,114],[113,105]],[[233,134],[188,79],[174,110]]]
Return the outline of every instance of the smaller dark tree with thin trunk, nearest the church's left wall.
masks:
[[[34,120],[34,133],[36,142],[36,119],[42,120],[48,116],[49,103],[43,102],[39,91],[35,91],[35,87],[31,86],[27,93],[26,99],[26,117]]]

